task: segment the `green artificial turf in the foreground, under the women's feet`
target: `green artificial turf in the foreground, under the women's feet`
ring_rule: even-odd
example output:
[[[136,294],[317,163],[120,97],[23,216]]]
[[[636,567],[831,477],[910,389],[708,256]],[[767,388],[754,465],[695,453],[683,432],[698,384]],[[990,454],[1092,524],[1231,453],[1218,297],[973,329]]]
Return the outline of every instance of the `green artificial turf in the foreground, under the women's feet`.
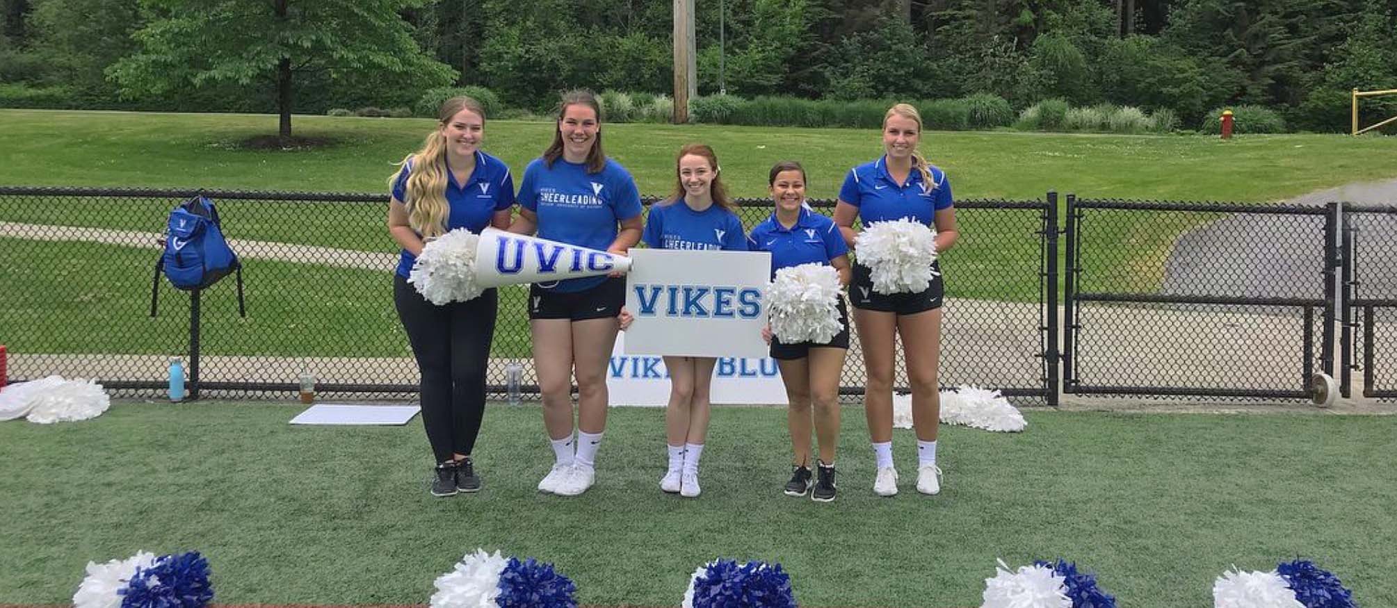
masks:
[[[1296,555],[1365,607],[1397,605],[1397,417],[1030,411],[1024,434],[943,428],[942,495],[872,494],[844,410],[840,498],[780,494],[780,409],[718,409],[704,494],[664,495],[662,411],[610,413],[599,482],[539,495],[538,407],[495,406],[478,495],[432,498],[420,423],[303,428],[282,404],[119,404],[94,421],[0,424],[0,604],[66,604],[88,561],[203,551],[222,604],[423,604],[476,547],[555,562],[583,604],[678,605],[715,556],[781,562],[806,607],[970,607],[996,558],[1063,556],[1120,605],[1211,605],[1231,566]]]

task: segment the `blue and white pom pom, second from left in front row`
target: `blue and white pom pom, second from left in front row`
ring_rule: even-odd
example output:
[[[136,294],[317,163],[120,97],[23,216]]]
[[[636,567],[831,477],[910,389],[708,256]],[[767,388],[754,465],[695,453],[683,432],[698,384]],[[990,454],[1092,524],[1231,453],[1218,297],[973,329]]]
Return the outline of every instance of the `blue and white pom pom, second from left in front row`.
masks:
[[[436,580],[432,608],[577,608],[577,587],[549,563],[476,549]]]

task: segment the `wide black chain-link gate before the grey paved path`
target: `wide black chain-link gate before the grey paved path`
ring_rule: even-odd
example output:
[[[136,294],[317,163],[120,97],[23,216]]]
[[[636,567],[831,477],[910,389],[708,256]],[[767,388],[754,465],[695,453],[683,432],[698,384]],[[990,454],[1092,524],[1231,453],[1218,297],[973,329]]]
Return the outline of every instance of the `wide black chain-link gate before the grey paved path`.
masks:
[[[1333,375],[1337,204],[1067,195],[1066,222],[1065,392],[1308,397]]]

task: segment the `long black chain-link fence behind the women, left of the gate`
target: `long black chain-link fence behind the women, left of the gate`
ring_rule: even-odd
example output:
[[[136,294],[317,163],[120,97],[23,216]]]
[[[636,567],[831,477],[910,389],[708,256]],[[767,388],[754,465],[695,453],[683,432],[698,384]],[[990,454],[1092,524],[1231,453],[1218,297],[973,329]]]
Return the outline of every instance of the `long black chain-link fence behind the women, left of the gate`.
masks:
[[[242,258],[246,318],[233,280],[191,296],[163,278],[159,312],[149,315],[165,219],[197,194],[218,204]],[[810,204],[833,211],[833,201]],[[766,199],[739,205],[747,230],[771,212]],[[1045,353],[1056,328],[1045,297],[1055,297],[1046,286],[1056,283],[1048,276],[1056,230],[1045,226],[1055,202],[961,201],[957,209],[963,236],[942,265],[942,383],[1052,403],[1056,356]],[[418,372],[393,308],[398,250],[386,222],[386,198],[367,194],[0,188],[0,343],[11,379],[60,374],[158,396],[168,357],[179,356],[203,396],[288,397],[310,372],[327,397],[411,397]],[[488,389],[503,393],[506,367],[518,363],[525,392],[536,390],[527,286],[499,294]],[[862,393],[852,342],[841,385]]]

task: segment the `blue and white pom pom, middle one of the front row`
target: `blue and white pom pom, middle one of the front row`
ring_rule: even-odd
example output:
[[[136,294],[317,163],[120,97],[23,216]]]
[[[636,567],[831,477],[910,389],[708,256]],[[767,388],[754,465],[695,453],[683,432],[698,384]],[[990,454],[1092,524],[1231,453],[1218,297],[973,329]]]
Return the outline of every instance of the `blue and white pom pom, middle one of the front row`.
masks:
[[[683,608],[796,608],[791,576],[781,565],[733,559],[708,562],[694,570]]]

